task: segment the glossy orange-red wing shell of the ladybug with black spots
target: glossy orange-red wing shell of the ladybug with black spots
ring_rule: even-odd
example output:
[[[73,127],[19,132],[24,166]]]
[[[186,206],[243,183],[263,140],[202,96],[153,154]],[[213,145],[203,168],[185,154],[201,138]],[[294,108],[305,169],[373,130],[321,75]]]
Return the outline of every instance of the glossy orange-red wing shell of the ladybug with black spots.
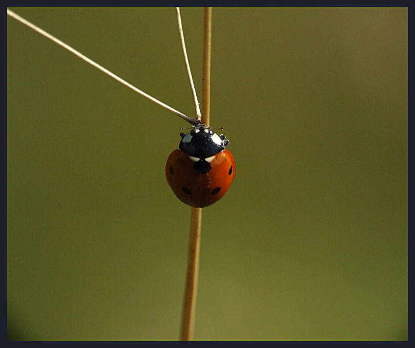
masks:
[[[228,192],[235,177],[235,160],[232,153],[223,150],[210,162],[211,170],[205,174],[193,170],[194,161],[181,150],[174,150],[166,163],[166,179],[174,194],[194,208],[207,207]]]

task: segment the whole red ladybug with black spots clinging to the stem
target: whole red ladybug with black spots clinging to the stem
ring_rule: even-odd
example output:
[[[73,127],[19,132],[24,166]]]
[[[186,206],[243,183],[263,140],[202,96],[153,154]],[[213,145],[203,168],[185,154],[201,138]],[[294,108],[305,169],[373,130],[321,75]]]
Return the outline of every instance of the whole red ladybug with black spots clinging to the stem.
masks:
[[[180,150],[171,152],[166,163],[168,185],[183,203],[207,207],[225,196],[235,177],[235,160],[225,150],[229,140],[204,124],[180,136]]]

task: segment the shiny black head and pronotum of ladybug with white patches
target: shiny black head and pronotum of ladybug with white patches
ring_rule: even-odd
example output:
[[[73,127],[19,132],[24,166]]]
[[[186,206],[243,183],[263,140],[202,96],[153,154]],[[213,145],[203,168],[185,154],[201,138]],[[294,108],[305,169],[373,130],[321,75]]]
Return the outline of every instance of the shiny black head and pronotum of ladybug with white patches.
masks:
[[[190,133],[180,133],[179,149],[192,157],[205,159],[225,149],[229,144],[226,136],[213,133],[204,124],[194,126]]]

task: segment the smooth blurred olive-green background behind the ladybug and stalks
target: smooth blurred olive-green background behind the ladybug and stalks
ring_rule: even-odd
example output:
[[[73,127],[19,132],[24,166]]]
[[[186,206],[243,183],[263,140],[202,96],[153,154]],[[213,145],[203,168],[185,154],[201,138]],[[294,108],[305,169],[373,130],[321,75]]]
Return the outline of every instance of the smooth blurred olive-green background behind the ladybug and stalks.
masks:
[[[14,9],[193,116],[173,8]],[[197,340],[407,339],[406,8],[213,10]],[[201,96],[203,10],[183,8]],[[187,124],[8,18],[9,339],[175,340]]]

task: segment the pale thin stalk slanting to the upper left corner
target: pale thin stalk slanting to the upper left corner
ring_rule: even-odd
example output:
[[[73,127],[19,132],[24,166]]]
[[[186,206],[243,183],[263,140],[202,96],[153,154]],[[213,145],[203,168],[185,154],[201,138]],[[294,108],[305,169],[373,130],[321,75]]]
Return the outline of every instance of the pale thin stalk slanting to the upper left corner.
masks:
[[[78,56],[79,58],[83,59],[86,63],[89,63],[92,66],[95,66],[97,69],[99,69],[102,72],[104,72],[105,74],[111,76],[113,79],[117,80],[118,82],[121,82],[126,87],[131,88],[133,91],[137,92],[138,94],[141,94],[142,96],[144,96],[145,98],[151,100],[152,102],[154,102],[154,103],[160,105],[161,107],[175,113],[177,116],[183,118],[185,121],[187,121],[191,125],[194,126],[198,123],[193,118],[188,117],[185,114],[181,113],[180,111],[177,111],[177,110],[169,107],[168,105],[164,104],[160,100],[157,100],[156,98],[153,98],[151,95],[149,95],[149,94],[143,92],[142,90],[138,89],[137,87],[134,87],[133,85],[129,84],[128,82],[123,80],[121,77],[119,77],[119,76],[115,75],[114,73],[112,73],[111,71],[105,69],[104,66],[99,65],[98,63],[95,63],[93,60],[91,60],[88,57],[84,56],[81,52],[77,51],[76,49],[72,48],[68,44],[62,42],[61,40],[55,38],[53,35],[49,34],[48,32],[44,31],[43,29],[39,28],[35,24],[33,24],[29,21],[26,21],[24,18],[20,17],[19,15],[14,13],[13,11],[10,11],[9,9],[7,9],[7,15],[9,15],[10,17],[13,17],[14,19],[18,20],[19,22],[27,25],[29,28],[37,31],[39,34],[42,34],[44,37],[48,38],[49,40],[52,40],[53,42],[59,44],[63,48],[67,49],[69,52],[71,52],[71,53],[75,54],[76,56]]]

